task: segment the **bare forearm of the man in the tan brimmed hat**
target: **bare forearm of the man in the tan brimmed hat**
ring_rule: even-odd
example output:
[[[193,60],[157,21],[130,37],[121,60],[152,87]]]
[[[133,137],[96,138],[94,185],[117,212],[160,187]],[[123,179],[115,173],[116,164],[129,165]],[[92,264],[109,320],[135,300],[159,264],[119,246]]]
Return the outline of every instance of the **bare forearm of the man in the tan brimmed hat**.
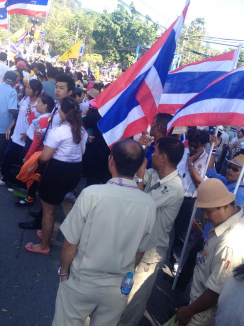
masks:
[[[189,305],[178,308],[176,317],[179,321],[179,325],[187,325],[195,314],[214,307],[218,302],[218,298],[219,293],[206,289],[197,300]]]

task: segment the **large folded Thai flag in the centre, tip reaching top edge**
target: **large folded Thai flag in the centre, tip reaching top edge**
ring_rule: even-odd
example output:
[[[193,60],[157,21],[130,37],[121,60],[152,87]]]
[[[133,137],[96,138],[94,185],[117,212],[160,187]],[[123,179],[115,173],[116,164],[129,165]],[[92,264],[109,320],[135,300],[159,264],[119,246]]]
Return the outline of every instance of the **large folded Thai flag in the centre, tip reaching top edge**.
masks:
[[[140,60],[96,98],[102,116],[98,127],[108,146],[152,124],[188,6],[189,0],[181,16]]]

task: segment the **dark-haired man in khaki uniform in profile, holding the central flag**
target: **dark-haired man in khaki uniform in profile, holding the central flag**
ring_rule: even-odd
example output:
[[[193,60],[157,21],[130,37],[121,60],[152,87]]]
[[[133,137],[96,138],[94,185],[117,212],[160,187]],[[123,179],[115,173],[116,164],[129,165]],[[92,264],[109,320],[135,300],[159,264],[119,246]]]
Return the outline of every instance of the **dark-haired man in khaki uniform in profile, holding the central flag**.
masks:
[[[184,191],[176,168],[184,153],[180,140],[165,137],[158,140],[152,155],[152,169],[145,170],[146,160],[137,172],[139,187],[157,205],[156,236],[152,236],[134,276],[134,285],[119,326],[140,323],[152,292],[158,271],[163,266],[169,243],[169,233],[183,202]]]

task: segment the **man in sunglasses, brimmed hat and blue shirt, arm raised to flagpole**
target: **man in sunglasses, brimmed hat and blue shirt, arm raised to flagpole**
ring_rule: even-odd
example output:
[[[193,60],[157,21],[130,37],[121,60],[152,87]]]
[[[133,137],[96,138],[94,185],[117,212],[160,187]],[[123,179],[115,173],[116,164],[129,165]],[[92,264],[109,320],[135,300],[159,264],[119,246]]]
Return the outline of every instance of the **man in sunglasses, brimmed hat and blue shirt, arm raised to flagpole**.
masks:
[[[210,142],[215,142],[215,146],[208,165],[207,177],[221,180],[230,192],[234,192],[237,180],[239,178],[239,175],[241,173],[244,164],[244,155],[239,154],[235,156],[232,160],[228,160],[226,175],[224,177],[223,175],[218,174],[216,172],[214,166],[215,148],[217,148],[220,139],[212,135],[210,137]],[[243,205],[243,204],[244,204],[244,182],[242,180],[236,194],[236,205]]]

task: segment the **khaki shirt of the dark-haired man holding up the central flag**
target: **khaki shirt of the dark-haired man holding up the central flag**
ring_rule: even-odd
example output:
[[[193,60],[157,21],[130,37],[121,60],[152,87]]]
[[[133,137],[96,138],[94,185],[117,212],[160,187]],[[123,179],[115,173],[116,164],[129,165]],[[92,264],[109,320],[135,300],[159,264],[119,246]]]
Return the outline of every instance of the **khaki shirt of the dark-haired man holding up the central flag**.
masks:
[[[157,183],[156,189],[151,189]],[[169,233],[182,205],[184,191],[177,169],[161,180],[155,169],[148,169],[144,175],[144,184],[146,185],[144,192],[156,203],[157,214],[154,230],[156,234],[151,237],[142,261],[154,263],[165,258]]]

